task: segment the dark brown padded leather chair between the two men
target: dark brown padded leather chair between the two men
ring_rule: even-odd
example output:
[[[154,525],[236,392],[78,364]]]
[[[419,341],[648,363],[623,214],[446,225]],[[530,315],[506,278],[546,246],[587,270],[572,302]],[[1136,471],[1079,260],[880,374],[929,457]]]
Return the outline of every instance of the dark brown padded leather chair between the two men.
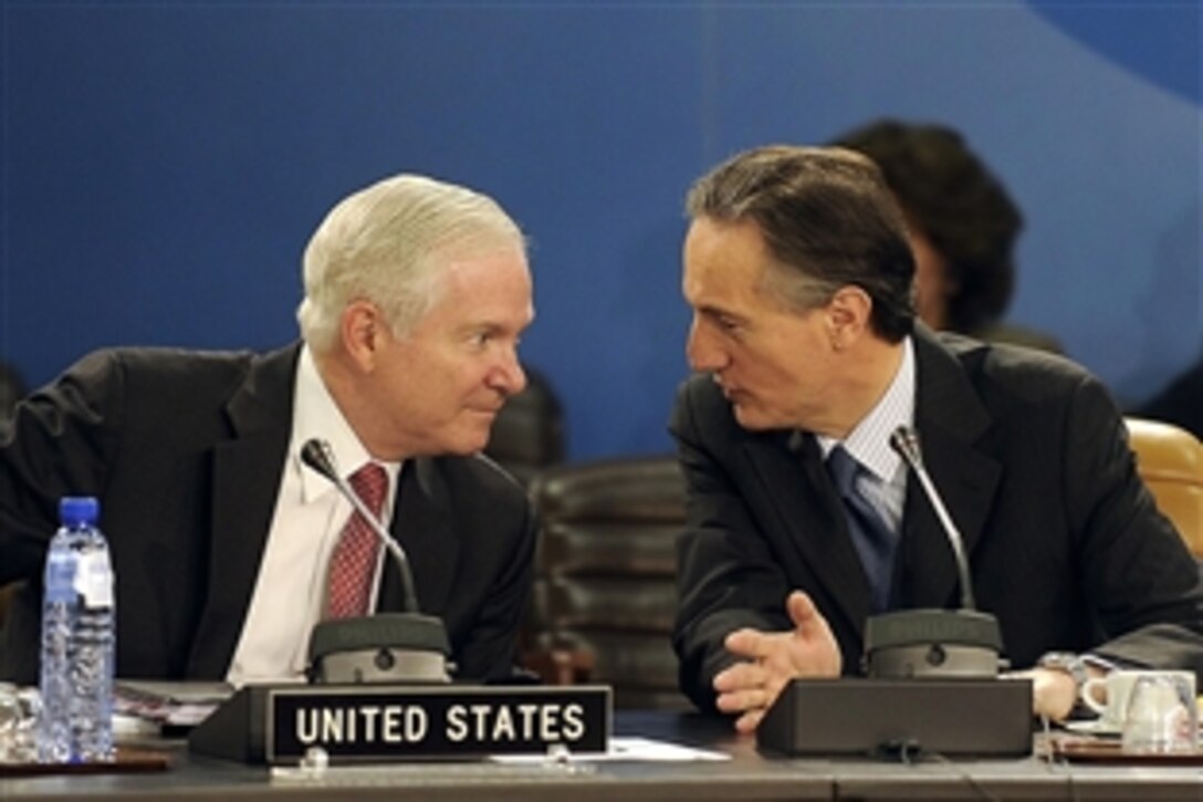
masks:
[[[609,684],[615,707],[688,709],[670,636],[685,479],[674,456],[561,465],[531,495],[543,537],[523,627],[546,682]]]

